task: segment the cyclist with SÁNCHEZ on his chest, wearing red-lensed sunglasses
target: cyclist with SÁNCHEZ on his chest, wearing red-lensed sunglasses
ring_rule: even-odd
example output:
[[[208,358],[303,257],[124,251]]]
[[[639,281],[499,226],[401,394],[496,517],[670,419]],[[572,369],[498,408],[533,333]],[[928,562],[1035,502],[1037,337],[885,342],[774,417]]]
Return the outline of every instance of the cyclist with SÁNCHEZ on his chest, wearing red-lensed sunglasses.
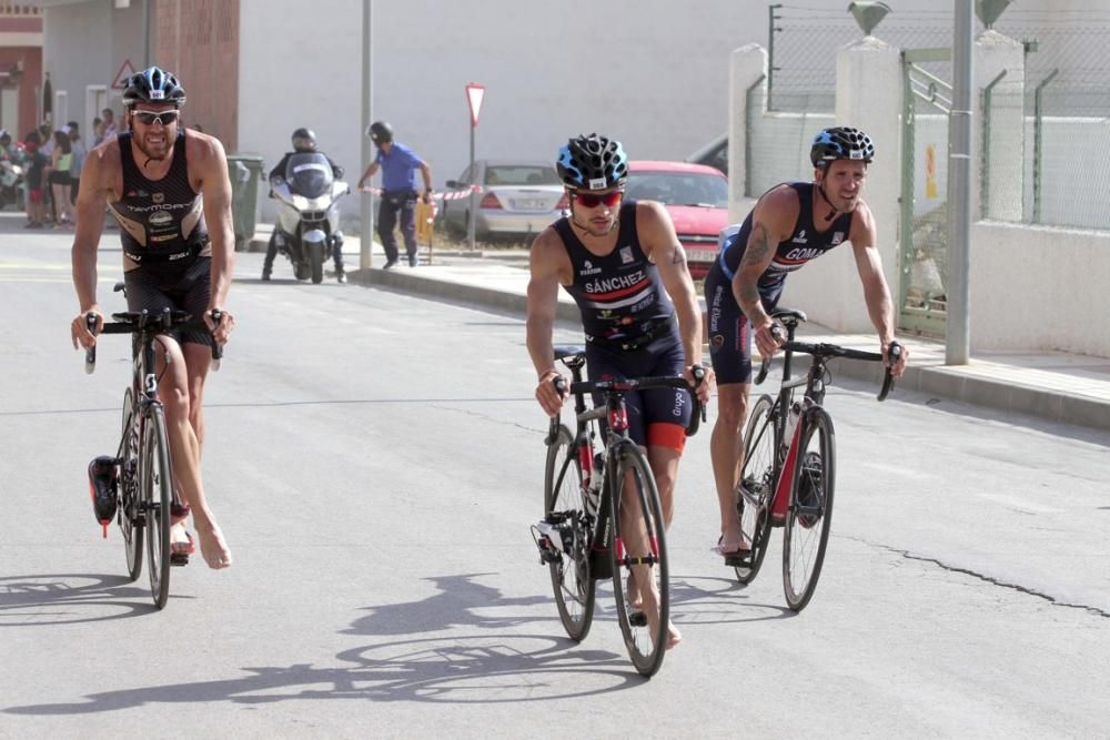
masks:
[[[554,416],[565,397],[553,383],[552,330],[562,285],[582,311],[586,368],[591,379],[683,375],[695,386],[702,363],[702,321],[686,252],[670,215],[659,203],[624,201],[628,159],[620,143],[591,134],[559,150],[556,170],[571,214],[555,222],[532,245],[527,344],[538,376],[536,399]],[[709,399],[713,374],[697,385]],[[674,515],[675,477],[686,442],[690,402],[686,391],[632,392],[629,433],[647,448],[666,524]],[[629,604],[643,602],[657,620],[654,581],[642,592],[629,584]],[[655,629],[655,625],[652,625]],[[669,626],[669,647],[682,639]]]

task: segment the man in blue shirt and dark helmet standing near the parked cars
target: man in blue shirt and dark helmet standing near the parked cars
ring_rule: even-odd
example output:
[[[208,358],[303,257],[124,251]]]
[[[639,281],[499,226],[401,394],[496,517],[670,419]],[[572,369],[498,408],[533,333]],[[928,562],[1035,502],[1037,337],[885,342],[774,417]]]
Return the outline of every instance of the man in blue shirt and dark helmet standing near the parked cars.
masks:
[[[416,175],[424,179],[424,202],[432,202],[432,170],[413,150],[393,141],[393,128],[385,121],[370,124],[366,135],[377,146],[377,156],[359,179],[362,189],[374,173],[382,170],[382,203],[377,210],[377,235],[385,247],[385,270],[397,264],[397,237],[393,230],[401,212],[401,230],[405,234],[408,266],[416,266]]]

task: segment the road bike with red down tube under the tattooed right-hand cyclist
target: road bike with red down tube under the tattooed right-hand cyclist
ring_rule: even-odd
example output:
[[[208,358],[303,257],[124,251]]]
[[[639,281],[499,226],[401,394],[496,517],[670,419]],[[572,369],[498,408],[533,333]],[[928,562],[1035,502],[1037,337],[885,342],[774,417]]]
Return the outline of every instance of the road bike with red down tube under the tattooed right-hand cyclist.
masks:
[[[751,549],[729,556],[741,584],[751,582],[770,541],[771,529],[783,528],[783,588],[794,611],[809,604],[821,575],[829,529],[833,525],[833,495],[836,484],[836,437],[833,417],[821,405],[833,375],[828,362],[836,357],[882,361],[876,352],[862,352],[835,344],[796,342],[794,333],[806,314],[793,308],[777,308],[771,317],[786,328],[783,348],[783,382],[777,397],[769,394],[756,401],[744,433],[744,465],[736,487],[740,530]],[[773,330],[783,339],[783,330]],[[795,353],[813,356],[808,373],[790,376]],[[891,342],[891,365],[902,347]],[[764,382],[770,357],[764,357],[756,385]],[[878,399],[886,399],[894,386],[886,367]],[[800,401],[795,392],[805,388]]]

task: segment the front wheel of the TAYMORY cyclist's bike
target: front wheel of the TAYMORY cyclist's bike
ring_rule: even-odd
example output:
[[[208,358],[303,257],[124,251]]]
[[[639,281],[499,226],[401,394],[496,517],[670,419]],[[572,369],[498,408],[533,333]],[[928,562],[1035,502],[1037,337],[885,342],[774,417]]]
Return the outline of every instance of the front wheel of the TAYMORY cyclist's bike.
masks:
[[[161,609],[170,595],[170,503],[173,500],[173,468],[170,440],[165,432],[165,412],[151,404],[143,424],[142,481],[143,513],[147,519],[147,568],[150,594]]]

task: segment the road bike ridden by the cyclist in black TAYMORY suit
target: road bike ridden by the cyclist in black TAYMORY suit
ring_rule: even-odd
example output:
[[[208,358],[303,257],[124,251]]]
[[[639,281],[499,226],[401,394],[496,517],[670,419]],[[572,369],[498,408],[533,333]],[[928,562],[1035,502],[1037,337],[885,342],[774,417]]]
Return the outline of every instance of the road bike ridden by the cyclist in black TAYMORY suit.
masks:
[[[115,286],[122,290],[122,283]],[[114,518],[123,535],[128,577],[134,581],[142,574],[143,540],[147,544],[147,569],[154,606],[161,609],[170,594],[170,566],[183,565],[172,556],[170,524],[173,511],[184,511],[174,486],[173,465],[170,459],[170,439],[165,428],[165,409],[159,399],[155,344],[160,334],[174,328],[202,328],[208,325],[193,321],[182,311],[163,310],[161,313],[124,312],[112,314],[113,322],[105,322],[102,334],[131,334],[131,385],[123,392],[123,426],[120,444],[113,458],[105,460],[111,468],[115,493]],[[212,312],[212,320],[220,322],[220,312]],[[97,317],[87,317],[89,331],[95,333]],[[212,343],[212,369],[219,369],[222,348]],[[169,362],[169,356],[167,356]],[[97,347],[85,351],[84,368],[92,373],[97,366]],[[164,372],[164,368],[163,368]],[[92,481],[90,480],[90,486]],[[94,494],[95,496],[95,494]],[[108,537],[109,519],[102,520]]]

